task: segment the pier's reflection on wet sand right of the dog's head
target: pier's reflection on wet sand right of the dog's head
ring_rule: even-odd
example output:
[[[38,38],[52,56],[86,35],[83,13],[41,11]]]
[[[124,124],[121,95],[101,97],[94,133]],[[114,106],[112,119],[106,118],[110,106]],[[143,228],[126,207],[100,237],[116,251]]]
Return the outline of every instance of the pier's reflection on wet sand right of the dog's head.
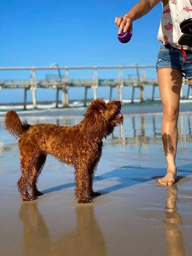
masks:
[[[180,115],[178,121],[178,142],[181,142],[183,153],[186,150],[186,143],[192,143],[190,115],[186,115],[185,117],[187,117],[187,120],[186,118],[184,120],[184,116]],[[123,125],[119,128],[119,136],[112,134],[105,143],[107,146],[120,146],[123,148],[123,151],[127,145],[129,147],[138,147],[139,152],[143,147],[143,153],[147,153],[148,145],[163,145],[161,138],[161,118],[159,115],[129,117],[132,126],[130,123],[126,123],[125,119]],[[146,124],[148,126],[147,128]],[[127,128],[129,128],[129,132],[125,131]],[[147,131],[148,133],[150,131],[148,136],[146,135]],[[115,134],[117,134],[117,131]]]

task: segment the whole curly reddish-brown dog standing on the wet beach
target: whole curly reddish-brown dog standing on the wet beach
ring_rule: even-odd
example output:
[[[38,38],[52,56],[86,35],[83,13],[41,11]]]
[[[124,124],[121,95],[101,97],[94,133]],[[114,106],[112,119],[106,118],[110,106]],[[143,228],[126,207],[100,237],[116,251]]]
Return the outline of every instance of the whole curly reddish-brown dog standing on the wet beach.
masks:
[[[17,182],[23,201],[43,195],[37,189],[37,180],[46,162],[47,154],[74,167],[75,196],[78,203],[89,203],[87,196],[97,196],[93,179],[102,154],[102,138],[123,123],[121,103],[97,99],[87,108],[84,119],[75,126],[22,123],[15,111],[5,117],[5,130],[19,138],[21,176]],[[29,195],[29,190],[31,195]]]

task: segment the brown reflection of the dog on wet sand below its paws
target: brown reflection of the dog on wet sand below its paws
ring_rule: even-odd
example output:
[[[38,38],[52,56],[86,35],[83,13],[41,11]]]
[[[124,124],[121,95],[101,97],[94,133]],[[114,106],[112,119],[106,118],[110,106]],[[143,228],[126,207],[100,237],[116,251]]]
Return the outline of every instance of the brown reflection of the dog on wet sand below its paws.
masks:
[[[22,202],[19,219],[23,224],[23,256],[107,255],[105,239],[91,205],[77,206],[75,230],[58,235],[57,238],[50,237],[36,201],[30,204]]]

